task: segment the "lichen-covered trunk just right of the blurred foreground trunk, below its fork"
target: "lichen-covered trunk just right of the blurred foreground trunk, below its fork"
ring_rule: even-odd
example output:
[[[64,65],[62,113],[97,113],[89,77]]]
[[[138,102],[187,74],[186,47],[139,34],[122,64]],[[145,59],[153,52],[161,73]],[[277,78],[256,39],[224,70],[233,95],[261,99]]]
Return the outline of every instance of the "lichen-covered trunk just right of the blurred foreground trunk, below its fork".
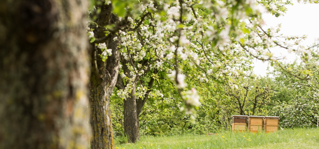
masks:
[[[116,50],[116,46],[111,48],[113,49],[112,56],[108,57],[102,69],[103,71],[97,73],[94,66],[92,66],[90,79],[91,125],[93,132],[91,140],[92,149],[115,147],[111,122],[110,96],[117,80],[119,52]],[[94,63],[92,64],[94,65]]]

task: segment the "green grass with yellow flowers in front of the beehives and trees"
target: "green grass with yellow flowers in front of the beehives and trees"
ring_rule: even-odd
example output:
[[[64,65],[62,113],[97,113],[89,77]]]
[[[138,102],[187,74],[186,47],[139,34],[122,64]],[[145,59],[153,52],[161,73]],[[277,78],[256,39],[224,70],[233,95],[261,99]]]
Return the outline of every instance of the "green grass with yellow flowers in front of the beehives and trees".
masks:
[[[115,140],[117,142],[117,140]],[[319,148],[319,129],[285,129],[272,133],[222,132],[217,135],[142,136],[140,142],[115,144],[116,149],[311,149]]]

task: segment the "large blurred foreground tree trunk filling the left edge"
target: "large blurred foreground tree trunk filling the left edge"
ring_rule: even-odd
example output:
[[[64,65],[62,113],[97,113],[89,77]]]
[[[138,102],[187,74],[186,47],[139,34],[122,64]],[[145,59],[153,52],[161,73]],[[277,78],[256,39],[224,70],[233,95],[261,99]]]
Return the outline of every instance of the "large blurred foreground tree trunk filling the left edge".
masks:
[[[87,1],[0,2],[0,148],[86,149]]]

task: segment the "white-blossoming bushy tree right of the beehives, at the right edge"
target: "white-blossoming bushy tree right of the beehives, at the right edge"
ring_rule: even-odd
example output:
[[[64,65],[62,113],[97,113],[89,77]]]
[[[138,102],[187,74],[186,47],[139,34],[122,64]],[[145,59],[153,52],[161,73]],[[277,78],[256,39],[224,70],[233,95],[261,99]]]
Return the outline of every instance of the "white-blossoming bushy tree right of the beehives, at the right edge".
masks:
[[[281,63],[271,72],[280,86],[280,94],[274,99],[278,104],[272,113],[281,117],[281,127],[315,127],[317,124],[319,71],[314,64],[319,60],[317,50],[312,50],[312,59],[308,62],[296,59],[293,63]]]

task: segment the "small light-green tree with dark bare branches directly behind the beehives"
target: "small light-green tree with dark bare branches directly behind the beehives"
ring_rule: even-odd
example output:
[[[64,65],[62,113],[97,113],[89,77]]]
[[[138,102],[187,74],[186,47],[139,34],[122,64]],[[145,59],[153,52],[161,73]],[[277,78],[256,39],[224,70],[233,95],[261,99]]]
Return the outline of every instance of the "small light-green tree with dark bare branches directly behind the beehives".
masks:
[[[238,89],[232,90],[225,87],[225,94],[231,99],[224,109],[239,113],[240,115],[265,115],[268,113],[267,105],[274,106],[271,97],[276,92],[275,84],[270,78],[253,80],[251,78],[239,79],[241,85]],[[222,100],[222,99],[221,99]],[[236,104],[235,107],[230,106]],[[237,112],[237,110],[239,110]]]

